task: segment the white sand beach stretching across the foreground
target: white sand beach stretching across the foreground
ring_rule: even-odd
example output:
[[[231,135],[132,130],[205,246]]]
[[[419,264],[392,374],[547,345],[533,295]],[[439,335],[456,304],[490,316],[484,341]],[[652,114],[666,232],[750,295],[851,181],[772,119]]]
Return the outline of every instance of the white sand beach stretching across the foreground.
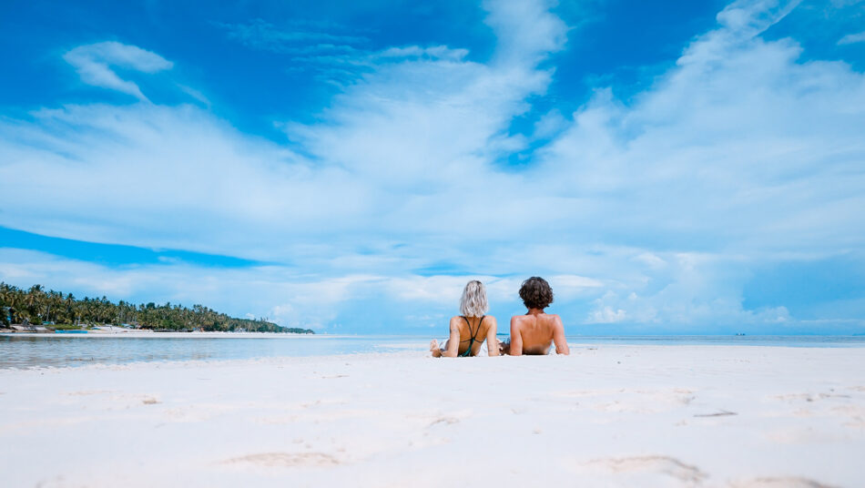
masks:
[[[0,371],[0,485],[865,483],[865,349]]]

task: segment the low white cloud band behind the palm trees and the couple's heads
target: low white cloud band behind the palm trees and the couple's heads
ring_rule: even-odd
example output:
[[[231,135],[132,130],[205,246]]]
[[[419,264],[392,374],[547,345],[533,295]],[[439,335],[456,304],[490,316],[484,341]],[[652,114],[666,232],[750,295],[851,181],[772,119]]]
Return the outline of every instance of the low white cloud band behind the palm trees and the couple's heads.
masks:
[[[418,310],[426,320],[441,322],[453,312],[465,285],[459,276],[393,277],[384,274],[343,273],[339,276],[298,274],[284,266],[209,268],[189,263],[147,264],[124,268],[65,259],[43,252],[0,248],[0,280],[46,283],[56,290],[75,290],[78,295],[103,296],[113,300],[148,300],[192,305],[219,305],[236,316],[268,317],[286,326],[301,325],[317,330],[386,331],[393,323],[402,327],[426,328],[434,322],[406,321]],[[520,279],[480,276],[498,313],[514,305],[514,290]],[[556,296],[584,297],[595,285],[578,276],[555,276],[550,282]],[[146,299],[141,299],[146,297]],[[80,296],[79,296],[80,298]],[[369,316],[376,303],[375,323],[352,323],[359,310]],[[441,325],[441,323],[439,323]]]

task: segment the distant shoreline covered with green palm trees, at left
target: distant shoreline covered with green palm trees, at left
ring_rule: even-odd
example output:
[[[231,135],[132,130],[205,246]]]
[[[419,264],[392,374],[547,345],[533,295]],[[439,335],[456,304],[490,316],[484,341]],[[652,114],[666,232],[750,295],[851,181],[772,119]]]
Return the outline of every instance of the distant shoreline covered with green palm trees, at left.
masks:
[[[15,324],[45,326],[55,330],[78,330],[116,325],[128,329],[191,332],[287,332],[314,334],[309,329],[282,327],[267,319],[237,319],[203,305],[191,309],[179,304],[117,303],[102,298],[76,299],[72,293],[45,290],[33,285],[21,290],[0,282],[0,328]]]

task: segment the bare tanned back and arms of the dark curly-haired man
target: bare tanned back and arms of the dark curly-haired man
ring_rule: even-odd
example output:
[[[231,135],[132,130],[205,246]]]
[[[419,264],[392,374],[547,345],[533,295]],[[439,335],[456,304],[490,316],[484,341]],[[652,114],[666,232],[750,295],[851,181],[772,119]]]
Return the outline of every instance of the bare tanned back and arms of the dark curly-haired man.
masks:
[[[558,315],[544,313],[544,310],[530,309],[525,315],[511,318],[512,356],[523,354],[549,354],[550,345],[555,343],[555,352],[570,354],[565,341],[565,326]]]

